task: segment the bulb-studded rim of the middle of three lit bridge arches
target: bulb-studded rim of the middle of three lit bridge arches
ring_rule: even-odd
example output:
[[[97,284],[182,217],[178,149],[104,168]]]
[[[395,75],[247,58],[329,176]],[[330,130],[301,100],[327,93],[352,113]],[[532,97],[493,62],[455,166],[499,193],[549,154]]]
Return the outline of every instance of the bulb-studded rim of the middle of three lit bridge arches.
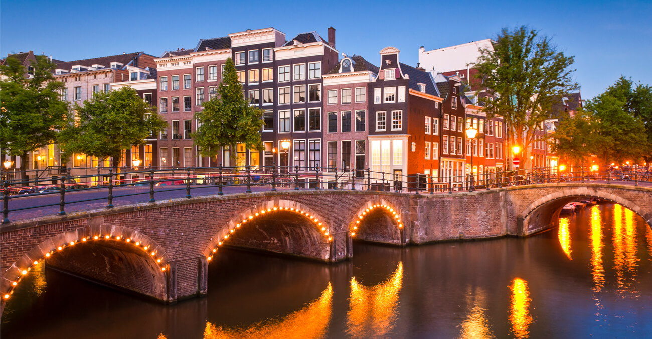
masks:
[[[220,246],[229,244],[229,237],[233,234],[237,234],[237,231],[241,229],[241,227],[255,223],[257,219],[278,213],[294,214],[295,216],[301,217],[304,221],[307,221],[312,227],[314,227],[314,230],[319,232],[321,235],[322,245],[326,250],[330,251],[330,244],[332,244],[333,236],[331,234],[331,226],[326,219],[301,202],[279,199],[261,202],[239,212],[237,216],[231,218],[226,225],[220,227],[220,229],[218,229],[218,231],[211,237],[211,240],[203,254],[208,261],[211,261],[213,255],[215,255]],[[331,257],[332,255],[329,253],[329,257],[321,259],[331,259]]]

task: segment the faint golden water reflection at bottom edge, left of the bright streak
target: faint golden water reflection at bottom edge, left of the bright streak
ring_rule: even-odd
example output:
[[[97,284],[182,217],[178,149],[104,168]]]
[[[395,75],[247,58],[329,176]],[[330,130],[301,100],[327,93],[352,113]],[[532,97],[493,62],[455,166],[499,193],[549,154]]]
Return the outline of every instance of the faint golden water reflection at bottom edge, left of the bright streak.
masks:
[[[475,293],[469,289],[466,293],[466,303],[471,308],[462,323],[459,338],[495,338],[489,326],[486,315],[486,292],[478,288]]]

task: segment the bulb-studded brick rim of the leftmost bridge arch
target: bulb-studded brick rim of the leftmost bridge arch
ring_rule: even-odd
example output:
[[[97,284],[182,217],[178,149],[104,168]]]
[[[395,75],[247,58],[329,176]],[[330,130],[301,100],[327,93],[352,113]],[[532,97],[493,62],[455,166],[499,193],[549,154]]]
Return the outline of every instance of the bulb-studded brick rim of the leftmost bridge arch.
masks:
[[[44,240],[38,246],[31,248],[27,253],[18,258],[10,265],[2,275],[0,283],[1,298],[4,303],[10,299],[14,289],[20,284],[22,278],[36,265],[44,260],[57,259],[61,255],[78,255],[79,251],[73,250],[87,244],[103,245],[110,244],[114,250],[121,251],[125,248],[135,250],[142,259],[149,261],[150,267],[156,267],[153,279],[160,282],[160,297],[164,297],[166,291],[166,271],[169,270],[170,257],[168,253],[155,240],[129,227],[112,227],[102,225],[100,227],[83,226],[67,232],[56,234]],[[73,253],[74,252],[74,253]],[[132,261],[132,264],[134,262]],[[136,263],[135,265],[138,265]],[[117,285],[118,287],[123,287]],[[143,293],[147,294],[147,293]],[[163,299],[163,298],[162,298]]]

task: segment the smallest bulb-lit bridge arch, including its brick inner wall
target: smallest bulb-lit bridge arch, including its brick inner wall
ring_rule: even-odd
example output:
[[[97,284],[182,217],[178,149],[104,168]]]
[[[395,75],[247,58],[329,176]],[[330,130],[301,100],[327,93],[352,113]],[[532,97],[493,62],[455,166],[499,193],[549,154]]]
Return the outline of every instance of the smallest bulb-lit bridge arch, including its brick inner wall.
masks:
[[[351,237],[355,237],[356,234],[359,235],[361,240],[369,240],[379,242],[378,237],[370,236],[369,234],[362,234],[364,226],[366,223],[376,222],[385,223],[385,231],[390,233],[396,233],[391,238],[385,238],[380,242],[388,243],[404,243],[404,225],[403,225],[403,216],[401,214],[400,208],[397,208],[391,202],[385,201],[384,199],[379,199],[375,201],[368,201],[355,213],[355,217],[349,223],[349,233]]]

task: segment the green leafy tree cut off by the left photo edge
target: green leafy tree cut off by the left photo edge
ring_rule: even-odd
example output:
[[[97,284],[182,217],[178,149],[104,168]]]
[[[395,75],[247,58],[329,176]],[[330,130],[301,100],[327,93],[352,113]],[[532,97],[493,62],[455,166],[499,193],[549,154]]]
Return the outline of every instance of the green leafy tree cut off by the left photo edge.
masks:
[[[55,65],[45,56],[32,62],[33,74],[16,57],[7,57],[0,66],[0,151],[20,155],[20,170],[25,170],[27,152],[54,142],[68,115],[68,104],[61,101],[61,82],[54,81]],[[5,152],[2,152],[3,154]]]

